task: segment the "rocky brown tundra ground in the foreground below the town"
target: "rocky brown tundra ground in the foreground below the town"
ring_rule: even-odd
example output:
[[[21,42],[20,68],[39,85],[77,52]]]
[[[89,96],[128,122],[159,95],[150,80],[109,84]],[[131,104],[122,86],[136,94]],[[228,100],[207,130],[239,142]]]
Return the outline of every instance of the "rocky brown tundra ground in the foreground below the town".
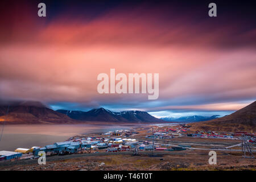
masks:
[[[47,157],[46,165],[37,159],[0,163],[0,170],[255,170],[255,159],[244,159],[241,153],[217,152],[217,165],[208,163],[207,151],[129,152],[115,154],[77,154]]]

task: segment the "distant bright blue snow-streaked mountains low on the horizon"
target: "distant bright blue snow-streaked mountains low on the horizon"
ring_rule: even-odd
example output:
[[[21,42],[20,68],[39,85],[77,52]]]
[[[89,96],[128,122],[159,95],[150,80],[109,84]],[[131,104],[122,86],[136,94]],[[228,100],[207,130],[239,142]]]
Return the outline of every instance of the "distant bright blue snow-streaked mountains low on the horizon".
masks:
[[[160,119],[163,119],[163,121],[189,123],[189,122],[208,121],[208,120],[216,119],[218,117],[220,117],[220,115],[212,115],[210,117],[206,117],[206,116],[202,116],[202,115],[191,115],[191,116],[184,116],[184,117],[179,117],[179,118],[165,117],[165,118],[160,118]]]

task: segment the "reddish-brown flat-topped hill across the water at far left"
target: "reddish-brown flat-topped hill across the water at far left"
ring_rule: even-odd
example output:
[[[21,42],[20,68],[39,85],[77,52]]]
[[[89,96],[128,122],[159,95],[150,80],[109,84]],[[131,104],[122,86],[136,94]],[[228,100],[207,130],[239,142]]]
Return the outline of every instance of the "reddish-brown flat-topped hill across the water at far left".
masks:
[[[74,123],[67,115],[49,109],[40,102],[12,102],[8,106],[0,105],[0,122],[6,124],[44,124],[44,123]]]

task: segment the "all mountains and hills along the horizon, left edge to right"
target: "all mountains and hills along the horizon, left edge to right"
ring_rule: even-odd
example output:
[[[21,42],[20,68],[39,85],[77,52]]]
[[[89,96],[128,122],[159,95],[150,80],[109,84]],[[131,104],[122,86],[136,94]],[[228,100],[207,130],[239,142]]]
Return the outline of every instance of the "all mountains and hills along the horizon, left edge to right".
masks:
[[[7,112],[9,108],[9,111]],[[234,131],[245,130],[255,132],[256,101],[230,115],[217,118],[218,115],[202,117],[199,115],[158,119],[145,111],[113,112],[104,108],[89,111],[52,110],[41,102],[24,101],[0,102],[0,123],[7,124],[49,124],[49,123],[83,123],[83,122],[123,122],[123,123],[159,123],[192,122],[191,125],[199,130]],[[213,119],[214,118],[214,119]],[[164,120],[163,120],[164,119]],[[170,120],[168,120],[170,119]],[[209,121],[205,121],[209,120]],[[200,121],[200,122],[199,122]]]

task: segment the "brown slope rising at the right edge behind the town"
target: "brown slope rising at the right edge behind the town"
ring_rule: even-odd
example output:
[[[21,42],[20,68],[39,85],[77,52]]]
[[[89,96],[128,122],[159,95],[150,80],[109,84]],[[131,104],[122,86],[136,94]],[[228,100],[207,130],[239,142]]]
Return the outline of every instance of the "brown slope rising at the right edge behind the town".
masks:
[[[199,130],[255,132],[256,101],[222,118],[192,123]]]

